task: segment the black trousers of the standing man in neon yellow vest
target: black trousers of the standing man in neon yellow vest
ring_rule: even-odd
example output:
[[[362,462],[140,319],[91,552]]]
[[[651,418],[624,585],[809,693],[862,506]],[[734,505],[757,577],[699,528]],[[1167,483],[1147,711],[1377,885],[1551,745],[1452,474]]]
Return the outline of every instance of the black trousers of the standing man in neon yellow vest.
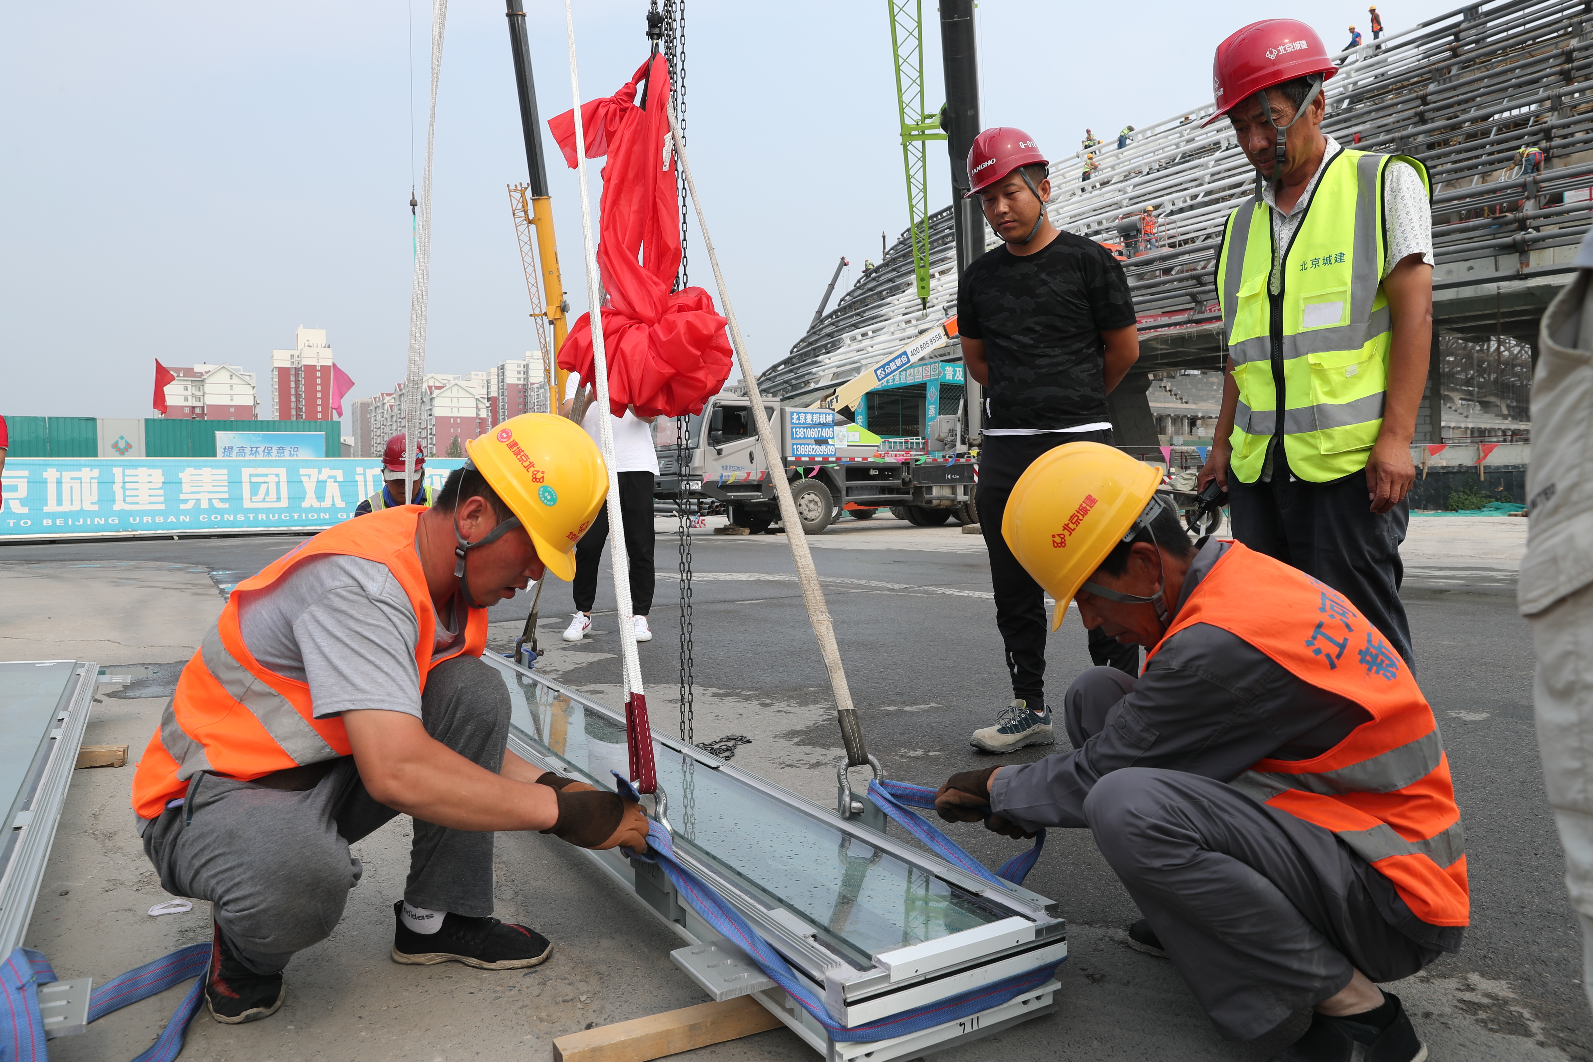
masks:
[[[1399,546],[1410,524],[1408,500],[1388,513],[1373,513],[1365,471],[1332,482],[1306,482],[1290,479],[1284,467],[1273,470],[1271,482],[1239,482],[1230,474],[1228,505],[1236,540],[1348,597],[1416,667],[1410,621],[1399,599],[1405,578]]]

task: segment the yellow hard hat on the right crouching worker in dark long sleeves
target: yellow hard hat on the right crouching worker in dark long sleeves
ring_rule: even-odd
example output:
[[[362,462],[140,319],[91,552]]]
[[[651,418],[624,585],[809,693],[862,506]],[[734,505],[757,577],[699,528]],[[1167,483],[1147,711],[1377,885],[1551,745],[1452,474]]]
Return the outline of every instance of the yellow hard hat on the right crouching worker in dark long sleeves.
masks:
[[[1056,599],[1051,631],[1112,548],[1137,532],[1161,473],[1161,465],[1101,443],[1067,443],[1042,454],[1013,484],[1000,535]]]

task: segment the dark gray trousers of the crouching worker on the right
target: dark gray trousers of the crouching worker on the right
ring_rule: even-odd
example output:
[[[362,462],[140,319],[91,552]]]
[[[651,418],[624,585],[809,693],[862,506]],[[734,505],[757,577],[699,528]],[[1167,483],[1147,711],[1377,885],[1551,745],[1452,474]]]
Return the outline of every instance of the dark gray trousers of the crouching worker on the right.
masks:
[[[1075,748],[1133,688],[1134,678],[1112,667],[1074,680],[1066,726]],[[1085,818],[1228,1040],[1255,1040],[1340,992],[1356,970],[1397,981],[1443,954],[1383,917],[1373,890],[1392,888],[1329,830],[1225,782],[1125,767],[1094,783]]]

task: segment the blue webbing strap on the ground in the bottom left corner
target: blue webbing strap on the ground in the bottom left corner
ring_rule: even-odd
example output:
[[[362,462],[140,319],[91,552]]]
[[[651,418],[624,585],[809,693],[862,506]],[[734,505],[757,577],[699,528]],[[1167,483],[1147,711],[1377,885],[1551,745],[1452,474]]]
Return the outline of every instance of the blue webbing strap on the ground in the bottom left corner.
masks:
[[[177,1005],[172,1021],[166,1022],[159,1038],[132,1062],[174,1062],[183,1049],[188,1022],[199,1013],[204,1000],[204,973],[210,966],[210,943],[178,947],[170,955],[129,970],[119,978],[94,989],[89,997],[89,1021],[97,1021],[129,1003],[137,1003],[164,992],[174,984],[199,978],[188,995]],[[56,981],[49,960],[30,947],[18,947],[0,963],[0,1062],[48,1062],[45,1048],[45,1022],[38,1014],[40,984]]]

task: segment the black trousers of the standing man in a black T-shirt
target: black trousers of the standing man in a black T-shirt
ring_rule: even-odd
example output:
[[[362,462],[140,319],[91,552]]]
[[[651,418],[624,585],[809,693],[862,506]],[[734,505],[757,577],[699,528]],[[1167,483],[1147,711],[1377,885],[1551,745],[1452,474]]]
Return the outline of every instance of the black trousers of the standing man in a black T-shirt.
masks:
[[[1045,704],[1045,635],[1050,632],[1050,616],[1045,615],[1045,591],[1023,570],[1000,535],[1007,498],[1018,476],[1034,460],[1067,443],[1112,444],[1112,431],[1048,431],[1045,435],[986,435],[980,447],[980,487],[975,503],[980,511],[980,530],[991,557],[991,586],[996,591],[996,627],[1007,650],[1007,672],[1012,675],[1012,696],[1037,707]],[[1099,631],[1090,632],[1090,659],[1118,670],[1139,674],[1139,646],[1121,645]]]

